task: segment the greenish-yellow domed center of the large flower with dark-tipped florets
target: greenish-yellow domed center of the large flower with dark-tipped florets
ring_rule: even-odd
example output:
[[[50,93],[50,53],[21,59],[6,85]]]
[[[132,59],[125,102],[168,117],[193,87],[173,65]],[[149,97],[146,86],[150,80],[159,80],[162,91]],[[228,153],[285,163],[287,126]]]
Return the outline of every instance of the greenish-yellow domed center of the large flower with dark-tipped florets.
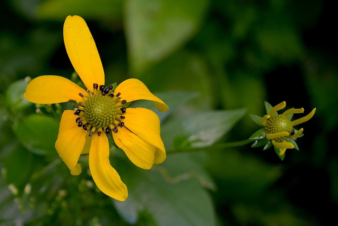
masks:
[[[82,126],[84,130],[89,131],[89,136],[94,132],[100,136],[102,130],[108,136],[110,133],[108,127],[117,133],[117,127],[124,126],[122,121],[125,118],[123,115],[126,108],[122,104],[125,104],[126,100],[121,101],[119,97],[121,93],[115,94],[111,85],[108,87],[100,85],[98,90],[98,84],[94,83],[93,87],[93,92],[87,90],[89,97],[79,93],[83,102],[74,105],[77,108],[74,115],[78,116],[75,122],[79,127]]]

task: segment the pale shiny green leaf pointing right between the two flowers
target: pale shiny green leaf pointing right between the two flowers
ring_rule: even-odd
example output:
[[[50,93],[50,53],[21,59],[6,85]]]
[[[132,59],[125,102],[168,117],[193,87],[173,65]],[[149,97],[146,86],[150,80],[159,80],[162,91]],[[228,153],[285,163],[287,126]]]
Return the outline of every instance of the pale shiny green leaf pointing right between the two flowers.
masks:
[[[183,122],[184,135],[191,147],[214,144],[244,116],[245,109],[207,111]]]

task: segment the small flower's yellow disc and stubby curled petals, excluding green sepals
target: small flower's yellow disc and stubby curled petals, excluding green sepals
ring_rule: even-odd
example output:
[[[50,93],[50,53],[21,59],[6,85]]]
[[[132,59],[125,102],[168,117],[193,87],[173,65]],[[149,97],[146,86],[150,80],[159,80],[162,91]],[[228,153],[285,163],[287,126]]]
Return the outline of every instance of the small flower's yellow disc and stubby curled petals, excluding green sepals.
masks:
[[[278,115],[276,112],[285,108],[286,102],[274,106],[268,115],[262,118],[262,124],[266,130],[266,139],[271,140],[274,147],[282,149],[279,155],[283,155],[286,149],[293,149],[294,145],[287,142],[286,139],[296,139],[303,133],[303,128],[299,129],[296,133],[293,126],[310,120],[316,112],[316,108],[305,117],[291,121],[287,116],[290,114],[304,113],[304,108],[288,109],[283,114]]]

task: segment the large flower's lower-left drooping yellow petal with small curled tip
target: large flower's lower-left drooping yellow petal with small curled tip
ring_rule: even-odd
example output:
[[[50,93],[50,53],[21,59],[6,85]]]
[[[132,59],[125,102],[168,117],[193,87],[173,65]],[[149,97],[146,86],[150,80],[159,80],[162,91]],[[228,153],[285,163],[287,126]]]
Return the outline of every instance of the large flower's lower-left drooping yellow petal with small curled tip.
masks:
[[[86,142],[87,131],[78,127],[75,122],[77,116],[73,110],[65,110],[61,117],[59,133],[55,142],[55,149],[72,175],[78,175],[81,171],[75,169],[77,160]]]

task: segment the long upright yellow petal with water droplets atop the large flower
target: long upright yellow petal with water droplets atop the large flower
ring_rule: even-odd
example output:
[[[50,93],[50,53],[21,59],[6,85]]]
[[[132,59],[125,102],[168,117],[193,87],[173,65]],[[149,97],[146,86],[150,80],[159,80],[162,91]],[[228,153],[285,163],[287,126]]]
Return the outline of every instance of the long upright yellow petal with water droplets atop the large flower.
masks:
[[[93,36],[81,17],[66,18],[64,41],[68,57],[87,89],[93,91],[93,83],[104,85],[104,72],[99,53]]]

